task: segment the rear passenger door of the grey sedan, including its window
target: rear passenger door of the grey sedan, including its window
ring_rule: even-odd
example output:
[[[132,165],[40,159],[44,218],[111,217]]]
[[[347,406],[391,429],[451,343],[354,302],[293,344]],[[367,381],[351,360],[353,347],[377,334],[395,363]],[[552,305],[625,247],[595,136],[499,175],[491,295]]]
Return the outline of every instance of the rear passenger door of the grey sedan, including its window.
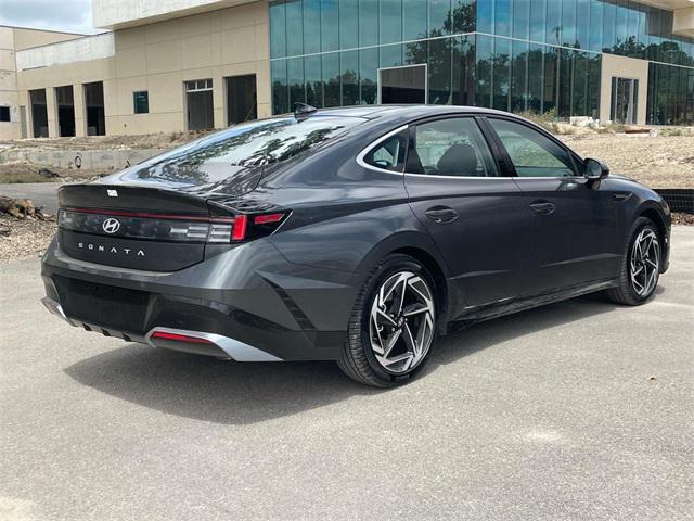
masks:
[[[474,117],[410,128],[406,189],[453,274],[454,302],[463,305],[452,317],[517,297],[528,264],[523,194],[513,179],[499,175],[491,150]]]

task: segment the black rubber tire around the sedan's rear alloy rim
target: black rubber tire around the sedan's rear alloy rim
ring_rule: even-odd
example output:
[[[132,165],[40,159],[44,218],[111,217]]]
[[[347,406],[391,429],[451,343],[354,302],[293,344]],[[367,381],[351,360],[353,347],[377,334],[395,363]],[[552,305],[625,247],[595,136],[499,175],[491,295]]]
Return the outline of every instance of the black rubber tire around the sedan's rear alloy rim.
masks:
[[[369,275],[362,287],[355,307],[349,316],[347,342],[342,356],[337,359],[339,368],[352,380],[375,387],[393,387],[410,381],[426,364],[436,342],[436,313],[434,307],[434,328],[429,347],[424,357],[411,370],[400,373],[387,371],[376,359],[371,347],[370,316],[381,285],[399,271],[411,271],[419,275],[430,289],[436,302],[436,287],[428,270],[409,255],[391,254],[386,256]]]

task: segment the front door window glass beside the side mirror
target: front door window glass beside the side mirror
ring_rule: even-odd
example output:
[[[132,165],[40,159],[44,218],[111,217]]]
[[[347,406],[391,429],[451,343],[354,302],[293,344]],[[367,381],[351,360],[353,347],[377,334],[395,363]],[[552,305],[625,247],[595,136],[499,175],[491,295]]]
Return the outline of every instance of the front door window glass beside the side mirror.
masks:
[[[519,177],[575,176],[568,152],[537,130],[505,119],[489,118]]]

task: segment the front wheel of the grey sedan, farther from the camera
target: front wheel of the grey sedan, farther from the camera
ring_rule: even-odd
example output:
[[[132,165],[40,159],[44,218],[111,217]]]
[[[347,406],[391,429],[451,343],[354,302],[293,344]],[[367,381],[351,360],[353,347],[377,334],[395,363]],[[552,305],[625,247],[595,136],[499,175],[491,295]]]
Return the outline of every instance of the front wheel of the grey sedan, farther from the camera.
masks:
[[[658,285],[660,253],[658,229],[651,219],[640,217],[631,228],[621,260],[619,285],[607,290],[607,297],[628,306],[646,302]]]

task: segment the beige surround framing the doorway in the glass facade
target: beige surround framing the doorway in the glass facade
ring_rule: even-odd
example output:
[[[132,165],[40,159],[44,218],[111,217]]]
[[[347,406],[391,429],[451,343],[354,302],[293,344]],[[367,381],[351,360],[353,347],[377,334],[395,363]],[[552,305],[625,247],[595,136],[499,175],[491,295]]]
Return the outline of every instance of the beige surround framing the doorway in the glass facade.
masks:
[[[639,100],[637,106],[637,125],[646,124],[646,102],[648,93],[648,62],[633,58],[603,54],[602,78],[600,87],[600,119],[611,119],[612,78],[632,78],[639,80]]]

